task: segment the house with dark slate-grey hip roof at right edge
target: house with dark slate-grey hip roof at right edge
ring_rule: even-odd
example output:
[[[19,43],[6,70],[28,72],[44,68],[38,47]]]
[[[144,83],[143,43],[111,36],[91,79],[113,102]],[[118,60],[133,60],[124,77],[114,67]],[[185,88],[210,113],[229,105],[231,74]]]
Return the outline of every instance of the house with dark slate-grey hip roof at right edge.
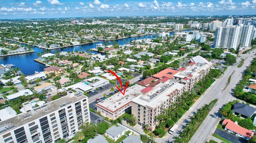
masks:
[[[246,104],[238,103],[238,102],[234,104],[234,108],[233,108],[233,113],[235,115],[240,114],[245,118],[247,117],[251,118],[255,114],[255,111],[256,111],[255,108],[248,106]]]

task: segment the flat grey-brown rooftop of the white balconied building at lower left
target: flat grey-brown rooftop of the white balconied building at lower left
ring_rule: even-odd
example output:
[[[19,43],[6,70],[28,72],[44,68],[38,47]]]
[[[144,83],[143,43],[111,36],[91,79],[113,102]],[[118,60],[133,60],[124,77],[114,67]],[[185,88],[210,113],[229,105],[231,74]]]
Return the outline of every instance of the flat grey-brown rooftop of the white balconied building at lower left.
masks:
[[[54,111],[58,111],[60,108],[70,106],[70,104],[78,102],[78,101],[86,98],[86,96],[84,96],[82,94],[79,94],[79,95],[80,96],[74,96],[74,97],[64,96],[62,98],[59,98],[57,100],[54,100],[54,101],[44,104],[42,106],[36,107],[36,108],[34,108],[35,114],[31,114],[30,112],[27,112],[26,114],[21,113],[21,114],[18,114],[8,120],[0,121],[0,127],[6,126],[6,125],[10,125],[10,127],[12,127],[12,126],[20,127],[21,125],[29,123],[30,121],[33,121],[38,118],[42,118],[42,117],[46,116],[47,114],[51,114]],[[60,107],[60,106],[62,106],[62,107]],[[24,118],[24,117],[26,117],[26,118]],[[4,132],[2,132],[2,133],[4,133]],[[0,134],[2,134],[2,133],[0,133]]]

